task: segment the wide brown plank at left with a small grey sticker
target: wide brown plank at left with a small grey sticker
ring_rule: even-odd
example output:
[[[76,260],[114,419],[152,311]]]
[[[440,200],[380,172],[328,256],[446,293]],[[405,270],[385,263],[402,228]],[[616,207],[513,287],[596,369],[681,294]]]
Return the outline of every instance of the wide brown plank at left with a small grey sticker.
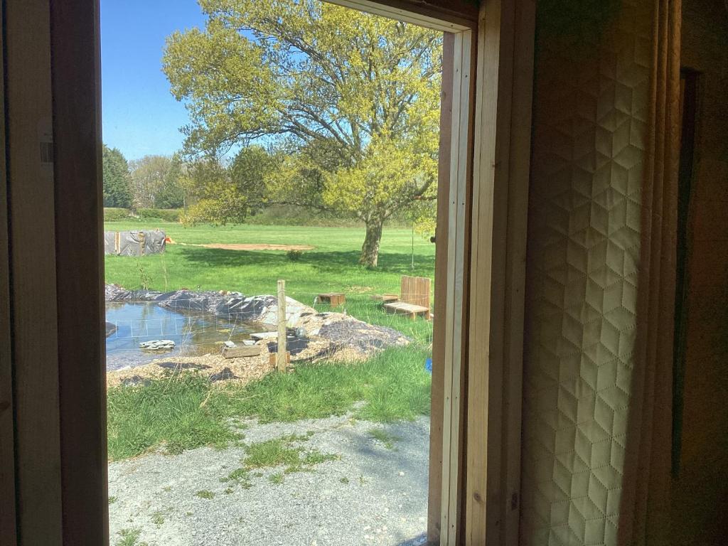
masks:
[[[63,532],[50,6],[7,0],[5,9],[18,544],[55,546]]]

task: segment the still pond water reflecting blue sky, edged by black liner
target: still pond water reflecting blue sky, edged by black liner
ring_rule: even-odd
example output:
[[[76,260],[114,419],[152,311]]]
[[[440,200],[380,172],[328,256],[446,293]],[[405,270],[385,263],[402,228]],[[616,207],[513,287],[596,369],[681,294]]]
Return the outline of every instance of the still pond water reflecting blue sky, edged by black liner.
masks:
[[[106,338],[106,369],[143,365],[155,358],[174,355],[205,355],[220,352],[224,341],[239,343],[250,333],[264,331],[256,323],[235,323],[210,313],[181,312],[151,303],[108,303],[106,322],[116,331]],[[175,348],[167,352],[145,352],[143,341],[171,339]]]

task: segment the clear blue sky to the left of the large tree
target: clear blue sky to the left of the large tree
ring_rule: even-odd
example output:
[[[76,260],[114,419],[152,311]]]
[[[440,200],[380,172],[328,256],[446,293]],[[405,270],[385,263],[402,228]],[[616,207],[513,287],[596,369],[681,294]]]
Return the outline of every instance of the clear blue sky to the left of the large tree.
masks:
[[[205,24],[195,0],[101,0],[103,141],[127,159],[172,154],[189,119],[162,74],[175,30]]]

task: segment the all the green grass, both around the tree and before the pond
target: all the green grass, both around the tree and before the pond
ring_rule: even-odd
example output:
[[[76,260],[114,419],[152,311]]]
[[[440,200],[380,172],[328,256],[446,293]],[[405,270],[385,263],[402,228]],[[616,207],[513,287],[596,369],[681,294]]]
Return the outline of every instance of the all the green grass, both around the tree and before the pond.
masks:
[[[171,454],[199,446],[240,441],[230,419],[256,416],[262,422],[314,419],[357,410],[361,419],[392,422],[430,411],[432,321],[385,314],[374,293],[399,293],[403,274],[433,277],[435,245],[407,229],[385,229],[379,267],[357,265],[364,230],[339,227],[197,226],[164,221],[116,221],[108,231],[163,229],[175,242],[277,243],[311,245],[298,261],[284,251],[220,250],[167,245],[164,254],[106,257],[106,282],[152,290],[237,290],[247,295],[275,293],[278,279],[288,296],[313,304],[317,293],[347,295],[346,311],[369,323],[386,325],[414,339],[357,365],[319,364],[296,373],[267,376],[245,387],[216,389],[194,375],[171,376],[138,387],[108,390],[108,455],[124,459],[165,446]],[[325,310],[317,305],[317,309]]]

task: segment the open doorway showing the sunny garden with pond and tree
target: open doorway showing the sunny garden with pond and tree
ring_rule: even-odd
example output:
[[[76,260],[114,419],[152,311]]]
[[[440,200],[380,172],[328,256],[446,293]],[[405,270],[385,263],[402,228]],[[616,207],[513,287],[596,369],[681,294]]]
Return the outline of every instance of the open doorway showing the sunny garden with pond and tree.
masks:
[[[313,1],[150,17],[173,138],[153,91],[114,111],[111,5],[111,544],[424,543],[458,501],[469,36]]]

